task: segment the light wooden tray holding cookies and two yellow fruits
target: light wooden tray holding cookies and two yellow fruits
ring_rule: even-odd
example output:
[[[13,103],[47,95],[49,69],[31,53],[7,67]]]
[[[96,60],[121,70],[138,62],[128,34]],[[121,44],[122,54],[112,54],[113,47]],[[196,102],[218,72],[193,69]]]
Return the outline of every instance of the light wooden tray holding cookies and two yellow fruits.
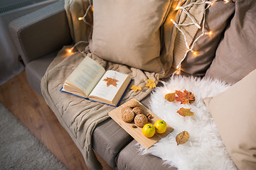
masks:
[[[131,99],[131,101],[132,100],[137,101],[134,98]],[[156,120],[160,119],[157,115],[155,115],[153,112],[149,111],[148,108],[146,108],[144,105],[142,105],[142,103],[139,103],[139,105],[144,110],[144,114],[149,113],[153,116],[153,119],[151,119],[151,122],[150,122],[152,125],[154,125]],[[132,123],[125,123],[122,120],[121,110],[124,106],[127,106],[127,103],[124,103],[121,106],[119,106],[118,108],[115,108],[113,111],[110,111],[110,113],[108,113],[108,114],[117,124],[119,124],[125,131],[127,131],[129,133],[129,135],[131,135],[134,138],[134,140],[137,140],[137,142],[139,142],[145,149],[149,149],[149,147],[151,147],[156,142],[161,140],[161,138],[165,137],[167,134],[169,134],[169,132],[172,132],[174,130],[174,128],[172,128],[170,125],[167,124],[166,132],[164,132],[162,134],[155,133],[155,135],[150,138],[145,137],[142,134],[142,128],[139,128],[139,127],[132,128],[132,125],[134,125],[133,121],[132,121]]]

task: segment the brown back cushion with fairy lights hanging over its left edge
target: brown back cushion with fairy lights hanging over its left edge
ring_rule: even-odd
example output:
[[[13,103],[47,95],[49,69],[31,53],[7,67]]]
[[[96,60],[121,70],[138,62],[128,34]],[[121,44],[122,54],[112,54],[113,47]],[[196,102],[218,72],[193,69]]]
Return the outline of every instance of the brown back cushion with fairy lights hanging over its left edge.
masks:
[[[195,57],[192,52],[188,52],[185,60],[181,64],[181,70],[188,74],[195,76],[203,76],[206,74],[206,70],[210,67],[213,58],[215,57],[215,51],[220,42],[220,38],[223,37],[224,30],[230,18],[235,12],[235,4],[227,3],[224,4],[223,1],[217,1],[213,6],[210,6],[206,10],[206,23],[205,23],[205,32],[208,33],[212,31],[212,35],[203,35],[193,46],[193,50],[198,52],[198,55]],[[202,27],[202,24],[201,24]],[[199,29],[196,33],[196,38],[202,34],[202,29]],[[183,38],[183,37],[182,37]],[[175,55],[176,56],[175,49]],[[183,57],[183,56],[181,56]],[[176,59],[174,59],[176,61]],[[178,60],[180,62],[180,60]]]

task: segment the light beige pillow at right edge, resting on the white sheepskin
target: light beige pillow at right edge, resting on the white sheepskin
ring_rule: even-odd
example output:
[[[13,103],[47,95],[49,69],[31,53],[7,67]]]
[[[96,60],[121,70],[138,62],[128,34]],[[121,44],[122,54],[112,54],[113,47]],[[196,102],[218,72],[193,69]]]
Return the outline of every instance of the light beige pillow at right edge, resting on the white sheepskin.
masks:
[[[256,169],[256,69],[204,101],[238,169]]]

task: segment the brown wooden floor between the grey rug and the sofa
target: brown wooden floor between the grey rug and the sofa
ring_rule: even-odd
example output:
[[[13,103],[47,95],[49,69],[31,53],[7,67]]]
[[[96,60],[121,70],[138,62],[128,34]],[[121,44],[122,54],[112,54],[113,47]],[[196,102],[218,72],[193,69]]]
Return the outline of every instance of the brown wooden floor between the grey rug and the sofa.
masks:
[[[82,154],[60,125],[43,98],[28,85],[26,73],[0,86],[0,101],[30,130],[68,169],[87,169]],[[112,169],[97,155],[103,169]]]

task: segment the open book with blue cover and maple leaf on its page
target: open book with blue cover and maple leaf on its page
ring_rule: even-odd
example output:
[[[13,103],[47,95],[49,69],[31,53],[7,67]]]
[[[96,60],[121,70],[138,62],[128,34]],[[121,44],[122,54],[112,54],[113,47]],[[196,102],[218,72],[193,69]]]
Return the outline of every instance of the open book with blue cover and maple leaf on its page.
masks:
[[[131,79],[127,74],[107,70],[85,57],[65,80],[60,91],[92,101],[117,106]]]

